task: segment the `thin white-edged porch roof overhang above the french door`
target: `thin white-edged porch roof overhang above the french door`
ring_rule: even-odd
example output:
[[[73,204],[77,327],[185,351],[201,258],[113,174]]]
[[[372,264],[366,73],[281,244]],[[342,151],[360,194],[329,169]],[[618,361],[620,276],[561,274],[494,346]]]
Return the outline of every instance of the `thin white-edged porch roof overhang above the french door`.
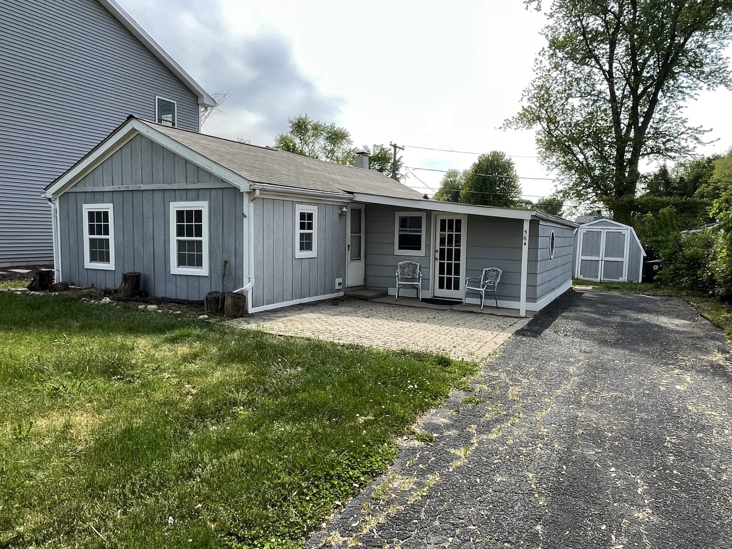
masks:
[[[433,210],[435,212],[448,212],[452,214],[473,214],[485,217],[502,217],[504,219],[531,220],[544,219],[567,225],[568,227],[578,227],[577,223],[572,223],[556,217],[554,215],[545,214],[543,212],[534,212],[529,209],[513,209],[513,208],[497,208],[496,206],[474,206],[473,204],[461,204],[456,202],[443,202],[431,200],[429,198],[411,199],[411,198],[389,198],[379,195],[365,195],[362,193],[354,193],[355,202],[365,202],[373,204],[384,204],[386,206],[399,206],[400,208],[414,208]]]

